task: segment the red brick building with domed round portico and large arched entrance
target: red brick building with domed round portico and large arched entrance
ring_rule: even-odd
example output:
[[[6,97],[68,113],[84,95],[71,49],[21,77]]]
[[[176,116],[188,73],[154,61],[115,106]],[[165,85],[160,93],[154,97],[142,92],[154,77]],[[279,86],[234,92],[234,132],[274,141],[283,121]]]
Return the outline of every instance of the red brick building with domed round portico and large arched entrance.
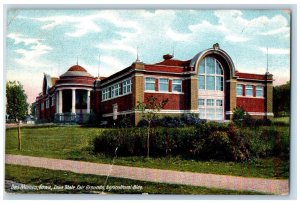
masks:
[[[107,77],[93,77],[74,65],[59,78],[44,74],[43,92],[36,98],[41,121],[103,122],[129,117],[141,119],[138,101],[168,98],[161,115],[193,113],[208,120],[230,120],[241,106],[257,118],[273,117],[273,76],[238,72],[218,44],[182,61],[164,55],[163,61],[145,64],[138,59]]]

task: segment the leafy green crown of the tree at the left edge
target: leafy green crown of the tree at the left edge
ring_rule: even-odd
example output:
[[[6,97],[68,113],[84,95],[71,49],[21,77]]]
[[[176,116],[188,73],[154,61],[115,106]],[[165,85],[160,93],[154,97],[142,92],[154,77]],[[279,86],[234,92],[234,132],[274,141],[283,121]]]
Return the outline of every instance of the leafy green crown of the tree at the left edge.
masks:
[[[27,95],[20,82],[6,83],[6,113],[11,119],[19,121],[28,114]]]

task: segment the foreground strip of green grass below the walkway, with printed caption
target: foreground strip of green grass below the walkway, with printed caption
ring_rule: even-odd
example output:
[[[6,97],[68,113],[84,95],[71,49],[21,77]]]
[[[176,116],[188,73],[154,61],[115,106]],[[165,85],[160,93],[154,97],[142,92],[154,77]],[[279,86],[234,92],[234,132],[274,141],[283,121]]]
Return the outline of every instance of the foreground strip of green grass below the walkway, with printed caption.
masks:
[[[12,180],[18,183],[33,185],[33,186],[74,186],[74,190],[11,190],[6,189],[7,192],[18,192],[18,193],[101,193],[102,190],[90,191],[84,188],[77,189],[77,186],[104,186],[106,177],[96,176],[89,174],[76,174],[69,171],[57,171],[48,170],[43,168],[24,167],[17,165],[6,165],[5,166],[5,179]],[[187,185],[176,185],[176,184],[163,184],[153,183],[144,181],[135,181],[130,179],[113,178],[109,177],[107,186],[140,186],[138,190],[106,190],[105,193],[117,193],[117,194],[195,194],[195,195],[257,195],[261,194],[258,192],[251,191],[233,191],[223,190],[216,188],[205,188]]]

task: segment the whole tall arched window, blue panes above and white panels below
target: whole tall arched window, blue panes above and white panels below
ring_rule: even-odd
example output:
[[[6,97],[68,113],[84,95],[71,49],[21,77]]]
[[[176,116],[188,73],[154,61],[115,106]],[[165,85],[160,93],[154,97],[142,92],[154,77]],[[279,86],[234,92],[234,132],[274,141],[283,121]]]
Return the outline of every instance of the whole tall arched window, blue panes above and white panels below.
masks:
[[[224,71],[220,62],[205,57],[198,70],[199,117],[224,120]]]

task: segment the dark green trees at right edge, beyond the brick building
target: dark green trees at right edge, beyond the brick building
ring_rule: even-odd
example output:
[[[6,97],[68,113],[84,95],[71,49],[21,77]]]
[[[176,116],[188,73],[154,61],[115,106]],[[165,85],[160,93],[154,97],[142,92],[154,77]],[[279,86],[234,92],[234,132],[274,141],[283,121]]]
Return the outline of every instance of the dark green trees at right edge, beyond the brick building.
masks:
[[[275,116],[290,114],[291,82],[275,86],[273,89],[273,111]]]

